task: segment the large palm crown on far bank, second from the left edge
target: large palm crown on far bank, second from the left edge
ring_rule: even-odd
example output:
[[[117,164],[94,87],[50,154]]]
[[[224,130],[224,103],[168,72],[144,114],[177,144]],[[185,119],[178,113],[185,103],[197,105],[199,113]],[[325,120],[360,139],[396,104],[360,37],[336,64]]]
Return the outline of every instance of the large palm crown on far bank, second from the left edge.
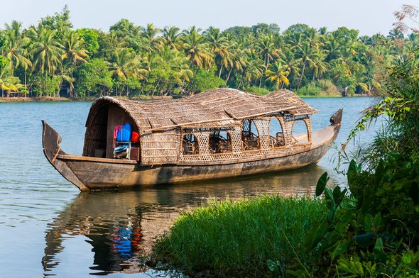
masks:
[[[33,45],[33,70],[38,70],[41,74],[49,72],[52,76],[55,70],[61,65],[61,57],[64,54],[64,46],[55,38],[55,30],[43,27],[30,29]]]

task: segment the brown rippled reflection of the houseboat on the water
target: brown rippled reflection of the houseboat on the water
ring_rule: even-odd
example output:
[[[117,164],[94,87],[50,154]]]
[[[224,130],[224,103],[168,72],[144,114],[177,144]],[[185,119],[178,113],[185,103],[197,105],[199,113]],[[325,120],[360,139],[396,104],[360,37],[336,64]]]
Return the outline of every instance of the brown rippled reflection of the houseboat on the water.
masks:
[[[66,260],[72,254],[65,255],[65,240],[79,237],[82,240],[77,250],[87,248],[92,252],[80,252],[77,256],[83,258],[80,260],[86,269],[94,271],[92,274],[149,272],[143,258],[151,251],[154,239],[167,231],[182,211],[227,196],[240,199],[263,194],[311,195],[323,172],[322,167],[312,165],[259,177],[81,193],[48,225],[43,257],[45,276],[68,267]]]

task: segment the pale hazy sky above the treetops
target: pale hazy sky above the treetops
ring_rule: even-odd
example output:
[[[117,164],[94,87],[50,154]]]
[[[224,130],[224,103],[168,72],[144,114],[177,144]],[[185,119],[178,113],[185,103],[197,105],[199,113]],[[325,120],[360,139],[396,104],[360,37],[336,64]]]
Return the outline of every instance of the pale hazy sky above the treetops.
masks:
[[[419,6],[419,0],[0,0],[0,28],[13,19],[28,28],[40,18],[61,12],[66,4],[76,29],[104,32],[126,18],[137,26],[153,23],[159,28],[177,26],[181,30],[276,23],[283,32],[293,24],[305,23],[330,31],[345,26],[371,36],[388,35],[396,21],[393,12],[403,4]]]

